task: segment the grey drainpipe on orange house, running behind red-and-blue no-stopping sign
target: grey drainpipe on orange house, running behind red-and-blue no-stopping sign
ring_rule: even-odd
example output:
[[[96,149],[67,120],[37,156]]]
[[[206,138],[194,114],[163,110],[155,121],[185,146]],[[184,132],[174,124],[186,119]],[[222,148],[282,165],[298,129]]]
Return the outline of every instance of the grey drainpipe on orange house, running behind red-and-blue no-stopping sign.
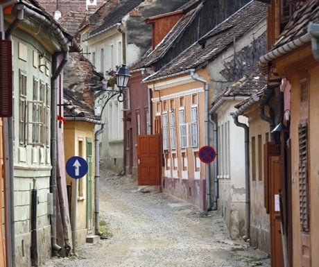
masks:
[[[209,130],[208,130],[208,102],[209,102],[209,88],[207,80],[199,78],[195,76],[195,69],[189,70],[191,73],[191,78],[193,80],[197,80],[200,83],[205,85],[205,146],[209,145]],[[209,172],[209,164],[206,164],[206,210],[212,210],[212,203],[211,203],[211,194],[210,194],[211,186],[210,186],[210,172]]]

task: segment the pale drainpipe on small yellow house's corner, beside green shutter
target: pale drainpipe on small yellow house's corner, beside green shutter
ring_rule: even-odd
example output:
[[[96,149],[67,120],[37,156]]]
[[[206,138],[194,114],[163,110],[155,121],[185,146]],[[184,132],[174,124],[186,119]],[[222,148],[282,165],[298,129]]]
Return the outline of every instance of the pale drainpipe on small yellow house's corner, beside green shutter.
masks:
[[[97,130],[95,132],[95,200],[94,200],[94,207],[95,207],[95,234],[98,236],[101,236],[101,231],[100,231],[100,205],[98,203],[99,201],[99,191],[100,191],[100,135],[105,131],[106,129],[106,123],[103,122],[101,123],[101,128],[100,130]]]

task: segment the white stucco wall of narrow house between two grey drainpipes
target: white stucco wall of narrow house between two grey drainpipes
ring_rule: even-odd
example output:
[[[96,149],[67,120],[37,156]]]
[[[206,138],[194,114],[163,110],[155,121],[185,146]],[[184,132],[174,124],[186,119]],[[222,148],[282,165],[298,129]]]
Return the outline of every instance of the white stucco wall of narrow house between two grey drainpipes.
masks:
[[[230,116],[238,101],[218,109],[218,210],[232,239],[245,234],[245,143],[244,130]],[[248,119],[239,117],[241,123]],[[222,144],[223,142],[223,144]]]

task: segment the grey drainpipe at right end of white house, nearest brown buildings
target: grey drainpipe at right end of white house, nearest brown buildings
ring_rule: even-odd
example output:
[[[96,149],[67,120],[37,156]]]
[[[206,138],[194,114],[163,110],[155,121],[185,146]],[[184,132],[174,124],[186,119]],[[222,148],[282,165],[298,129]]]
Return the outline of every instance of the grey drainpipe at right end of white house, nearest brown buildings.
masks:
[[[234,123],[236,126],[241,127],[245,130],[245,236],[243,236],[244,241],[250,239],[250,179],[249,179],[249,128],[245,123],[238,121],[239,115],[243,113],[252,104],[259,101],[259,96],[257,94],[252,94],[249,101],[239,107],[236,112],[232,113]]]

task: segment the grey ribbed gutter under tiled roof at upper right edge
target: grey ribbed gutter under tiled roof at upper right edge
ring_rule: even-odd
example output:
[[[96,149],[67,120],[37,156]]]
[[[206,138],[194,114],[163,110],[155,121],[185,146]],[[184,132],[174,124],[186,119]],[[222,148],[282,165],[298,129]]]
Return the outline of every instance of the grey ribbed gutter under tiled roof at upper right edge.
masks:
[[[269,62],[281,57],[282,55],[286,55],[289,52],[304,46],[304,44],[308,44],[309,42],[311,42],[313,57],[319,61],[319,24],[310,22],[308,25],[308,33],[300,36],[296,40],[292,40],[291,42],[279,46],[277,49],[274,49],[259,58],[259,69],[261,74],[268,74]]]

